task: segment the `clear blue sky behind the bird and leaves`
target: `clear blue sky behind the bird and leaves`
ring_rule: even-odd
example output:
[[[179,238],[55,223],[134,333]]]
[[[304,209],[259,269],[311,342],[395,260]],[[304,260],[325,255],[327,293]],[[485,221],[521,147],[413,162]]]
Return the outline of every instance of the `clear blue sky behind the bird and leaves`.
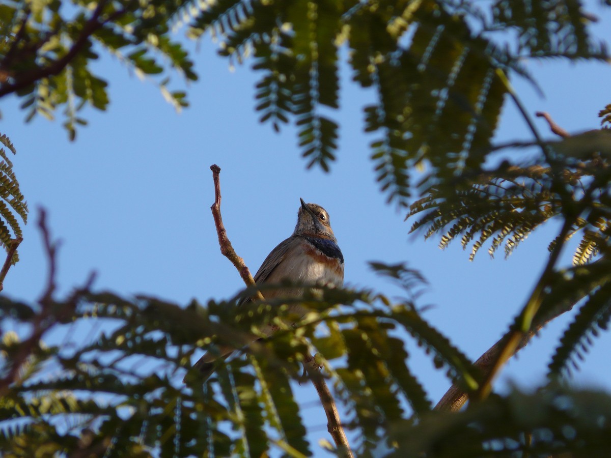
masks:
[[[611,10],[593,3],[600,21],[593,30],[611,42]],[[195,46],[189,44],[191,49]],[[230,71],[205,37],[193,54],[200,80],[189,89],[191,107],[177,114],[155,85],[130,75],[116,59],[104,56],[97,68],[110,82],[108,111],[88,110],[89,126],[69,142],[59,122],[35,118],[24,123],[16,98],[0,104],[0,132],[18,154],[14,170],[31,210],[4,293],[34,300],[45,285],[46,261],[37,230],[37,208],[48,212],[59,251],[59,294],[82,285],[91,271],[95,288],[119,294],[144,293],[186,304],[235,294],[243,284],[219,252],[210,205],[210,165],[221,169],[222,214],[238,254],[254,273],[277,243],[295,227],[299,198],[318,203],[331,216],[346,260],[347,285],[367,286],[397,296],[401,291],[377,277],[367,261],[406,261],[428,279],[419,305],[432,305],[425,318],[467,355],[477,358],[507,330],[524,304],[547,259],[554,227],[535,232],[516,252],[494,260],[486,250],[469,262],[458,243],[445,250],[437,239],[408,235],[411,222],[386,205],[368,159],[371,137],[362,133],[362,107],[373,100],[357,89],[342,68],[342,109],[337,162],[331,173],[305,170],[291,126],[275,134],[258,123],[254,111],[257,75],[246,65]],[[531,114],[547,111],[571,133],[597,128],[598,111],[611,103],[611,66],[558,60],[525,62],[543,87],[541,98],[529,83],[514,79]],[[536,121],[551,137],[546,124]],[[527,126],[513,106],[503,108],[497,140],[529,140]],[[572,253],[565,252],[563,262]],[[535,338],[500,376],[497,386],[540,382],[558,336],[570,316],[557,319]],[[574,382],[611,388],[606,349],[609,333],[595,341]],[[436,402],[449,387],[442,371],[413,341],[412,369]],[[305,402],[314,401],[313,389]],[[326,438],[324,415],[306,409],[312,438]]]

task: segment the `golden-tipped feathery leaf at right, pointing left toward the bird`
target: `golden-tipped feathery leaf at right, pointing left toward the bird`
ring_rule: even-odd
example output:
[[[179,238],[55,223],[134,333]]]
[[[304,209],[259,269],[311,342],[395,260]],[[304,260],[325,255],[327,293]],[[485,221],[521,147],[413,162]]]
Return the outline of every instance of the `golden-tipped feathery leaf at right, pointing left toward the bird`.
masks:
[[[555,148],[568,153],[566,142]],[[580,154],[577,145],[571,144],[574,154],[558,158],[555,167],[564,167],[561,173],[541,164],[519,167],[502,164],[490,172],[478,172],[467,183],[461,181],[459,189],[448,196],[444,186],[431,187],[425,197],[412,203],[408,216],[419,215],[411,231],[424,231],[425,238],[441,234],[440,247],[445,248],[460,237],[463,249],[472,245],[470,260],[486,242],[491,242],[488,252],[492,256],[505,245],[505,256],[547,220],[564,216],[565,206],[571,212],[579,208],[582,216],[571,216],[574,224],[565,235],[565,241],[575,234],[582,240],[577,246],[574,263],[584,264],[601,252],[609,250],[609,198],[606,191],[593,189],[598,204],[589,207],[589,197],[584,197],[587,183],[595,183],[606,189],[609,183],[606,159]],[[582,159],[576,162],[576,158]],[[602,161],[602,162],[601,162]],[[543,162],[543,161],[541,161]],[[562,165],[561,165],[562,164]],[[558,189],[571,189],[570,195]],[[567,210],[568,211],[568,210]],[[449,226],[449,228],[448,228]],[[550,249],[555,245],[552,242]]]

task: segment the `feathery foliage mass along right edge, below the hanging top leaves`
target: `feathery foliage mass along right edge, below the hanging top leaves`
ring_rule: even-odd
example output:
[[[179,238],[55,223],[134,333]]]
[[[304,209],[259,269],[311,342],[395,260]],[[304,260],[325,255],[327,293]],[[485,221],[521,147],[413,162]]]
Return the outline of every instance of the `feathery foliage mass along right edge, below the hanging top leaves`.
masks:
[[[540,316],[580,306],[552,355],[552,379],[578,367],[611,318],[609,145],[609,129],[541,144],[539,153],[522,165],[503,161],[494,169],[472,173],[453,195],[431,187],[412,203],[406,217],[416,219],[411,231],[424,231],[426,238],[442,234],[441,248],[457,238],[463,248],[471,245],[471,260],[486,244],[491,256],[503,244],[509,256],[536,228],[554,220],[563,229],[550,241],[551,253],[579,238],[573,267],[555,268],[540,280],[545,288]]]

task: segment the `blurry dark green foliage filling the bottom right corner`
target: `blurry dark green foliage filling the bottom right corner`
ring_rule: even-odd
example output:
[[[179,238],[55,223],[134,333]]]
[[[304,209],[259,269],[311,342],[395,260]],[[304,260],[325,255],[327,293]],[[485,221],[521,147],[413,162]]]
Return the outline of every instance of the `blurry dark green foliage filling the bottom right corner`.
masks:
[[[602,457],[611,447],[610,420],[611,397],[602,391],[513,391],[451,415],[430,415],[416,426],[397,424],[387,456]]]

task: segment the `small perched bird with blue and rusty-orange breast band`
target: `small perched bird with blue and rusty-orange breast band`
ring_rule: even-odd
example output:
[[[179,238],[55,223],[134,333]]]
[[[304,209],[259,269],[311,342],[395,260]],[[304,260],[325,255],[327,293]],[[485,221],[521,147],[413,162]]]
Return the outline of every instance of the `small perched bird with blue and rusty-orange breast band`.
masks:
[[[280,242],[259,267],[254,280],[257,285],[268,283],[277,285],[282,282],[326,285],[341,288],[344,278],[344,258],[337,244],[335,234],[331,229],[329,213],[315,203],[305,203],[299,199],[301,206],[297,213],[297,225],[293,234]],[[277,296],[301,297],[303,288],[290,288],[267,291],[266,299]],[[241,300],[245,304],[250,297]],[[300,317],[307,313],[299,305],[291,305],[290,313]],[[262,332],[271,335],[271,325],[263,327]],[[253,336],[253,341],[257,338]],[[206,380],[214,372],[215,361],[220,357],[228,358],[236,349],[229,346],[219,346],[212,354],[207,352],[193,365]],[[185,376],[186,380],[186,376]]]

